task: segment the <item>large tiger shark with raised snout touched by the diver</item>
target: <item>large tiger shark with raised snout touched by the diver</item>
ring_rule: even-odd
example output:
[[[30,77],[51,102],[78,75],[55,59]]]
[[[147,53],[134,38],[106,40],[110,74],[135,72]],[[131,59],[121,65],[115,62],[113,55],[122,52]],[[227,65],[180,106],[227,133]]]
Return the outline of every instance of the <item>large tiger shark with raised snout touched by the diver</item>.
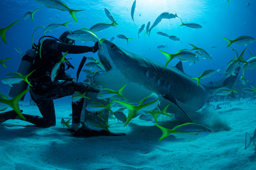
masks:
[[[237,77],[230,76],[219,85],[199,82],[197,86],[197,81],[183,71],[182,62],[164,70],[164,64],[133,54],[107,40],[99,47],[98,57],[106,72],[95,75],[93,81],[96,84],[113,90],[127,84],[123,95],[128,102],[139,102],[156,93],[161,102],[159,109],[171,104],[167,112],[174,113],[175,118],[180,117],[178,119],[185,122],[191,120],[181,116],[184,115],[182,112],[201,109],[213,93],[224,86],[231,86]]]

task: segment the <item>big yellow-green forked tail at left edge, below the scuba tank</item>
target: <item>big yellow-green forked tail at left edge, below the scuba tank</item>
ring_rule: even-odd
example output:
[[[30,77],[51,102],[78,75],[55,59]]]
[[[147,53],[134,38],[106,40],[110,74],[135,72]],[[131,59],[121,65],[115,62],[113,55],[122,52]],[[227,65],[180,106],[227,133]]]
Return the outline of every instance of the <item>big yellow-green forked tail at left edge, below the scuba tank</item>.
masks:
[[[4,103],[4,104],[6,104],[6,106],[14,109],[14,111],[21,117],[21,119],[26,120],[26,118],[21,114],[21,111],[19,109],[19,100],[29,90],[30,90],[30,88],[22,91],[19,95],[17,95],[15,98],[12,98],[12,99],[8,99],[5,95],[0,94],[0,96],[2,97],[2,98],[0,98],[0,102]]]

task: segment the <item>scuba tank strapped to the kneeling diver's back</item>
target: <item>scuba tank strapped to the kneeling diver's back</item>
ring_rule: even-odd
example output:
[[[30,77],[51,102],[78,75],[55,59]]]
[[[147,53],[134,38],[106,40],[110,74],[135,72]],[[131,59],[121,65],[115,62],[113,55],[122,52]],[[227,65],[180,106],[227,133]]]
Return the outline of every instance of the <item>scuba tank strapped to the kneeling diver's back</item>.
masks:
[[[22,75],[27,75],[30,73],[33,69],[33,62],[36,56],[36,49],[29,49],[26,51],[25,55],[21,59],[21,63],[19,65],[19,68],[17,72],[21,73]],[[26,90],[28,88],[28,84],[24,81],[20,82],[19,84],[13,84],[13,87],[11,87],[9,91],[9,96],[14,98],[22,91]],[[25,96],[25,95],[24,95]],[[21,98],[21,100],[24,100],[24,96]]]

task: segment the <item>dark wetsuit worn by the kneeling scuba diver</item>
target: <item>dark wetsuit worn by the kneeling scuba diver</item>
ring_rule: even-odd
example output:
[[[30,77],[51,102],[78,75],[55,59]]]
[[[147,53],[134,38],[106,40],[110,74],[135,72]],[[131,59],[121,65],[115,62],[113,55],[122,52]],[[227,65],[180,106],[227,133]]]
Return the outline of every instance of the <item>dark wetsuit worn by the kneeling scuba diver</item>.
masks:
[[[81,54],[93,51],[93,47],[78,46],[73,44],[61,43],[58,40],[47,39],[43,41],[41,58],[39,53],[36,55],[30,94],[31,98],[40,110],[42,116],[33,116],[23,114],[26,121],[41,127],[50,127],[56,125],[55,109],[53,99],[62,98],[73,95],[75,91],[84,93],[87,88],[82,83],[73,82],[72,79],[65,74],[64,64],[62,63],[55,81],[51,81],[49,73],[54,65],[62,58],[62,52],[68,51],[70,54]],[[88,89],[93,91],[93,89]],[[77,104],[72,102],[72,122],[80,123],[81,111],[83,108],[82,99]]]

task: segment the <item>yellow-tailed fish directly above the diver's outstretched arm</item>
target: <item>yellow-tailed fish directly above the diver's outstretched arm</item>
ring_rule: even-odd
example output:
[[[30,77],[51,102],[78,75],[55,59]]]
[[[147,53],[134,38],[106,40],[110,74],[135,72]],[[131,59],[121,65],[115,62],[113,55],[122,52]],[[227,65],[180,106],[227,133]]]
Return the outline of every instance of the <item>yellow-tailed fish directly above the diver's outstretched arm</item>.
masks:
[[[78,40],[78,41],[92,41],[92,42],[100,42],[100,44],[106,39],[98,38],[97,34],[94,33],[92,30],[88,30],[87,28],[81,28],[79,30],[75,30],[67,37],[71,40]]]

